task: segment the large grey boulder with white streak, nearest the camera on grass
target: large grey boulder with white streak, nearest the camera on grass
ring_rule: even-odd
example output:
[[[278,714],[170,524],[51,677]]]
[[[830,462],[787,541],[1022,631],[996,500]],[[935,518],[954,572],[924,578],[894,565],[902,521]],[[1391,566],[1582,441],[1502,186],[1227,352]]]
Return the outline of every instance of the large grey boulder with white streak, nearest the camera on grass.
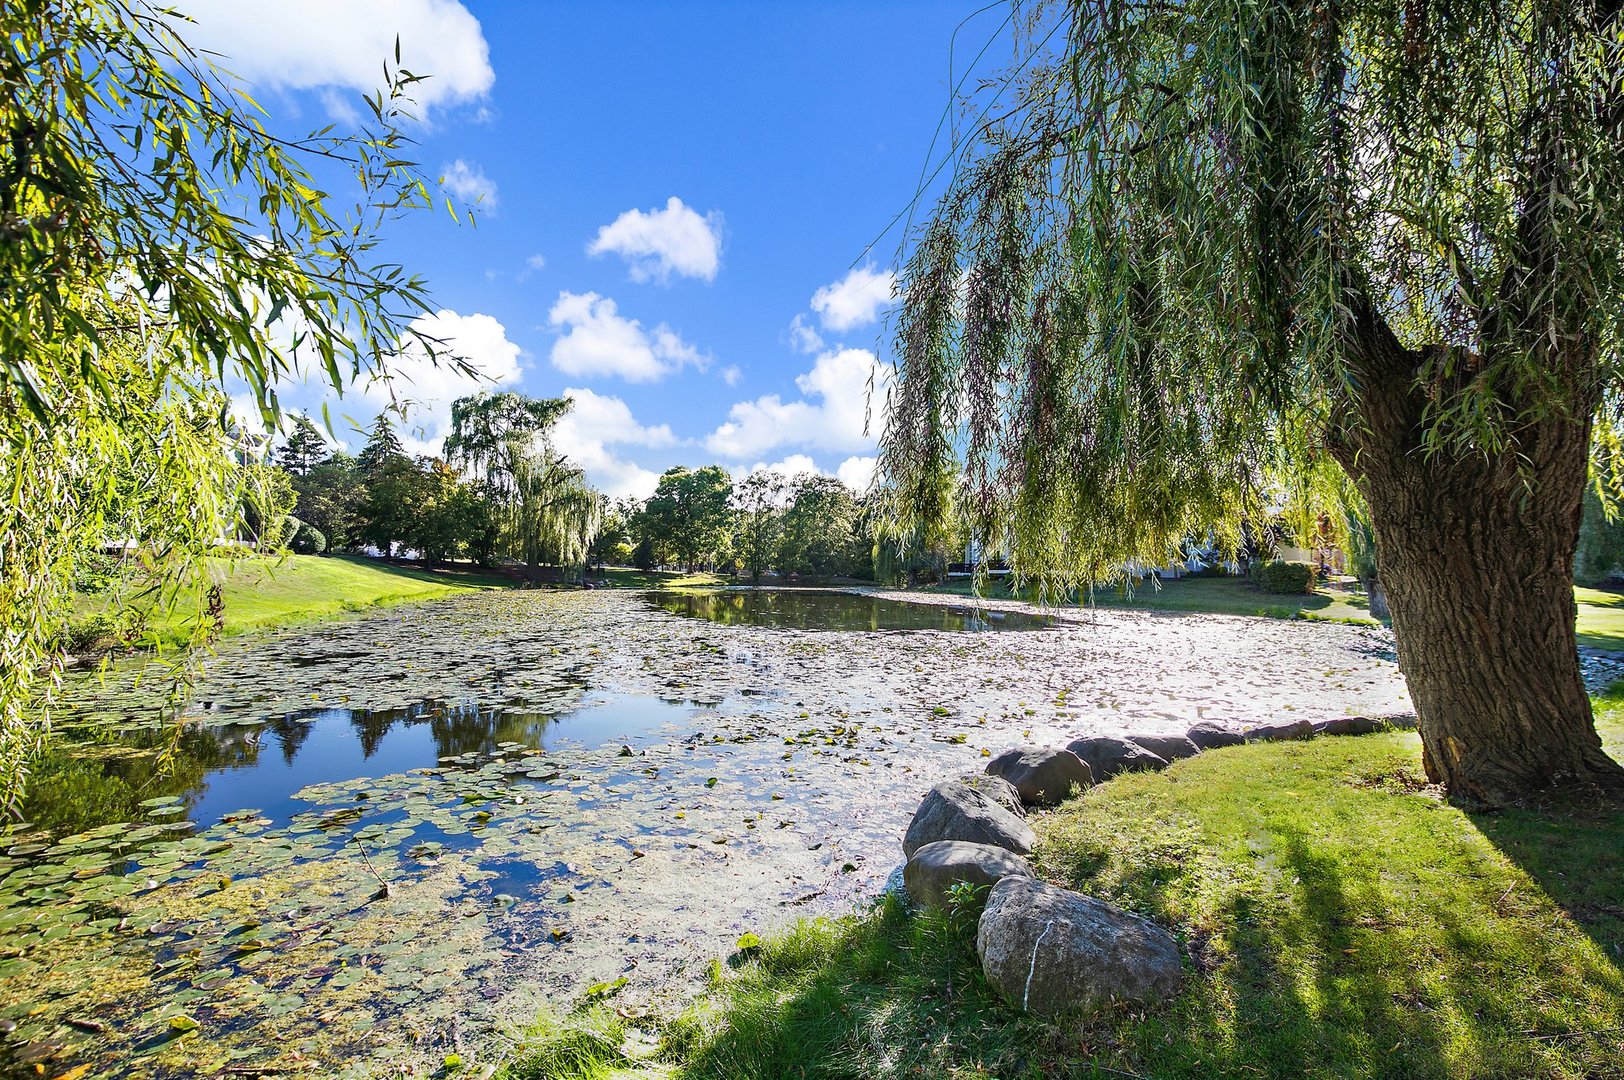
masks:
[[[1179,944],[1160,926],[1028,877],[992,887],[976,952],[987,981],[1039,1017],[1158,1002],[1184,984]]]

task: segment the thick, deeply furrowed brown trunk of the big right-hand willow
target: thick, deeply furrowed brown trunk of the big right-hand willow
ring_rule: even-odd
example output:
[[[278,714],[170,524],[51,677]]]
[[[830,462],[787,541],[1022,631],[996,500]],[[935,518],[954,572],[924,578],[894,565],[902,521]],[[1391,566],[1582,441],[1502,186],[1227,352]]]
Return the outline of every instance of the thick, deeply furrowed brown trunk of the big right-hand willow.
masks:
[[[1427,776],[1489,806],[1624,789],[1574,642],[1590,409],[1523,427],[1502,456],[1427,453],[1416,357],[1393,359],[1359,387],[1338,456],[1371,508]]]

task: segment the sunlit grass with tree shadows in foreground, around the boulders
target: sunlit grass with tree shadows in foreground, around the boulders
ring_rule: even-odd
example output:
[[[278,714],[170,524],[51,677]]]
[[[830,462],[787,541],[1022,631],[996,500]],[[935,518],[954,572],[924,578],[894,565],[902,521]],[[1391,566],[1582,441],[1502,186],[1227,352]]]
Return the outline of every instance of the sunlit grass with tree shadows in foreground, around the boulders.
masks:
[[[1624,757],[1624,695],[1598,700]],[[1044,877],[1173,927],[1168,1007],[1065,1030],[968,918],[802,922],[663,1023],[599,1005],[510,1077],[1619,1077],[1624,807],[1468,814],[1413,734],[1218,750],[1036,820]]]

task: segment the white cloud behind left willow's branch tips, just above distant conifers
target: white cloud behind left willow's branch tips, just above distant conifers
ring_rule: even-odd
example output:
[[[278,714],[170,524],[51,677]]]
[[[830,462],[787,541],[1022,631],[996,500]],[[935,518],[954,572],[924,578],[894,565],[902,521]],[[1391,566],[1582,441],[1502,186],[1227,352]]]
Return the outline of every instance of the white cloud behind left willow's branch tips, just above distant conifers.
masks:
[[[427,349],[414,339],[406,339],[401,349],[385,361],[390,380],[375,378],[361,387],[361,395],[383,408],[395,400],[406,404],[406,422],[401,442],[414,453],[440,453],[440,443],[450,430],[451,403],[479,390],[512,387],[523,375],[520,348],[508,341],[507,328],[490,315],[458,315],[451,310],[419,315],[411,323],[435,346],[440,362],[429,359]],[[466,375],[451,365],[450,357],[461,357],[477,369],[479,377]]]

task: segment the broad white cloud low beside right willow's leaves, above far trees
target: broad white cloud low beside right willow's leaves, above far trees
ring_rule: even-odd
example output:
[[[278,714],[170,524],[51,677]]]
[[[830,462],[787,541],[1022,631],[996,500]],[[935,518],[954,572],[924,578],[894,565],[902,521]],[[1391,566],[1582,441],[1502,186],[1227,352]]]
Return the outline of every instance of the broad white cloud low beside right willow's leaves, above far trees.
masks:
[[[711,453],[734,461],[749,460],[778,447],[804,447],[835,453],[872,450],[883,427],[890,369],[867,349],[840,349],[817,357],[812,370],[796,378],[804,395],[784,401],[767,395],[739,401],[728,411],[728,422],[705,440]],[[869,383],[874,383],[875,414],[864,432],[869,411]]]

